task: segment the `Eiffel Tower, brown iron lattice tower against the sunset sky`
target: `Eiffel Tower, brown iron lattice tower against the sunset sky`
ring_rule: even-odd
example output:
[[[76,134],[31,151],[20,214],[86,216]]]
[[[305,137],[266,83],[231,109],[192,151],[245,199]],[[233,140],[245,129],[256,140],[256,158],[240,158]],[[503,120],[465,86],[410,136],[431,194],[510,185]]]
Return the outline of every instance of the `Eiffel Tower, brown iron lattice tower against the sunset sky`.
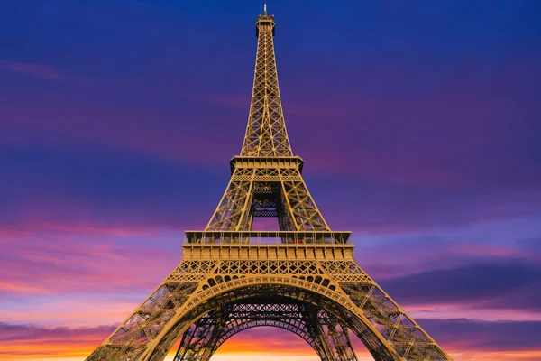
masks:
[[[160,361],[179,339],[175,361],[207,361],[259,326],[295,333],[324,361],[357,360],[349,331],[375,360],[451,360],[356,264],[351,232],[332,231],[316,207],[286,132],[266,5],[255,30],[250,116],[224,196],[204,230],[186,232],[179,266],[87,361]],[[256,217],[280,230],[252,230]]]

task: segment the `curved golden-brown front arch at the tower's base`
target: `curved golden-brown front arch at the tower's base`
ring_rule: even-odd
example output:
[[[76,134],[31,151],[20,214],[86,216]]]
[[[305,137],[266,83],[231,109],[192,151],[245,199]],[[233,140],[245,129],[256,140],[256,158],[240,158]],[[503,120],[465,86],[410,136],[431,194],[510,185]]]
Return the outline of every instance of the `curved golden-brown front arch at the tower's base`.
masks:
[[[206,313],[216,310],[222,304],[249,302],[252,298],[271,300],[277,296],[316,305],[324,310],[333,310],[329,313],[361,339],[375,360],[401,360],[371,322],[362,312],[356,310],[344,292],[340,289],[332,290],[330,284],[323,286],[284,276],[243,277],[206,288],[197,295],[197,301],[187,302],[188,307],[184,311],[177,311],[176,316],[161,332],[161,338],[155,339],[142,354],[142,360],[161,361],[180,335],[187,332],[189,327]]]

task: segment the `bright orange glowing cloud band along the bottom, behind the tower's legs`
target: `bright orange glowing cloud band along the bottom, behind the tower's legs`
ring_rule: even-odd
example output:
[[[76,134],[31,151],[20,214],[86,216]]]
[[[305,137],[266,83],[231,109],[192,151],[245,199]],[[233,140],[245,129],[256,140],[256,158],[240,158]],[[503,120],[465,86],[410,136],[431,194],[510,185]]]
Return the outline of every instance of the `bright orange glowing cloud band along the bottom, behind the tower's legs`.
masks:
[[[113,326],[96,328],[42,328],[28,325],[0,323],[0,356],[3,360],[71,361],[84,359],[114,329]],[[353,339],[359,360],[372,360],[360,341]],[[467,342],[444,345],[455,361],[534,361],[541,350],[519,349],[475,350]],[[168,359],[176,351],[173,347]],[[229,339],[218,349],[213,360],[258,361],[316,361],[315,351],[307,343],[288,331],[274,328],[255,328],[243,331]]]

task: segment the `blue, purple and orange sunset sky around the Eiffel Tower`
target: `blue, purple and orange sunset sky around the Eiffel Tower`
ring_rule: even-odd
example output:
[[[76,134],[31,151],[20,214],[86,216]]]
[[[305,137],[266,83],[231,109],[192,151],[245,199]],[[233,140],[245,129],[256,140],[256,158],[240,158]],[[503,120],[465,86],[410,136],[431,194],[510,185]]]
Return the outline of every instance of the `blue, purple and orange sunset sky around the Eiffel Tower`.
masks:
[[[293,152],[358,264],[454,360],[540,360],[541,2],[268,8]],[[179,264],[241,149],[261,12],[0,3],[1,359],[84,359]],[[316,354],[256,328],[213,359]]]

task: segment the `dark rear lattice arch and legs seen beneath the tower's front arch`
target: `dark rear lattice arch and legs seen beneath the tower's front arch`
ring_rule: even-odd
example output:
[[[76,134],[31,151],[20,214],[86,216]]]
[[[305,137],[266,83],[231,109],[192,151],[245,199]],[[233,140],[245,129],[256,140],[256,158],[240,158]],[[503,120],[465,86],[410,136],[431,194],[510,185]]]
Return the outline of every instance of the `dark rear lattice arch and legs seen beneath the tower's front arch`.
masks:
[[[208,360],[227,339],[244,329],[261,326],[289,330],[303,338],[324,361],[356,360],[347,329],[339,322],[326,310],[288,299],[280,303],[225,304],[198,319],[182,335],[174,360]],[[333,337],[323,333],[329,329]]]

